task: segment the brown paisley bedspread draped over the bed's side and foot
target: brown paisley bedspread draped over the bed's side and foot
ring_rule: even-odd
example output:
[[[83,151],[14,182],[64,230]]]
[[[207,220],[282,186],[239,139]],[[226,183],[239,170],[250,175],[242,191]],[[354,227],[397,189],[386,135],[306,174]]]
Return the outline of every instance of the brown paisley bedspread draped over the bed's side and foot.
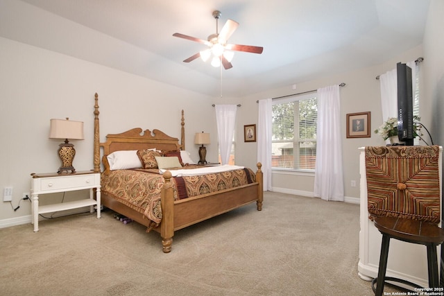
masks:
[[[194,166],[189,166],[192,169]],[[198,167],[198,166],[195,166]],[[101,191],[144,214],[157,225],[162,220],[160,191],[164,178],[158,169],[117,170],[102,173]],[[250,168],[208,175],[173,177],[174,200],[181,200],[256,182]]]

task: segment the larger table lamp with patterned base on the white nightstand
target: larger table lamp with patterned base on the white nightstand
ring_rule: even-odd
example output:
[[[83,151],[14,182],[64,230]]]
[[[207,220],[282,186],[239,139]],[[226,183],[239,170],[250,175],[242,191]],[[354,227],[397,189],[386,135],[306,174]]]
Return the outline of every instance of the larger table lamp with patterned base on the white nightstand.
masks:
[[[62,166],[58,168],[61,173],[75,173],[76,169],[72,166],[76,150],[74,145],[69,143],[70,140],[83,140],[83,122],[70,121],[65,119],[51,119],[49,128],[49,139],[65,139],[65,143],[61,143],[58,148],[58,155],[62,160]]]

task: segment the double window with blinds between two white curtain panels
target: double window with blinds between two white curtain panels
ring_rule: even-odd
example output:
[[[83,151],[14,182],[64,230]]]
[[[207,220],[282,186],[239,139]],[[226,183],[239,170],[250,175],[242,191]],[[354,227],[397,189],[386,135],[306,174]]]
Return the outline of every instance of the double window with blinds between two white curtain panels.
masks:
[[[272,168],[314,171],[318,118],[316,93],[273,101],[272,116]]]

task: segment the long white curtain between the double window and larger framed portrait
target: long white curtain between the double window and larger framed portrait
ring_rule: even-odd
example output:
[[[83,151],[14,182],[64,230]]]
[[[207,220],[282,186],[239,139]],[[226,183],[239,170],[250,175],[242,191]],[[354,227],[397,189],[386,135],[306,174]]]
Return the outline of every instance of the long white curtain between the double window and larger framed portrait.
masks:
[[[339,85],[318,89],[314,196],[344,200]]]

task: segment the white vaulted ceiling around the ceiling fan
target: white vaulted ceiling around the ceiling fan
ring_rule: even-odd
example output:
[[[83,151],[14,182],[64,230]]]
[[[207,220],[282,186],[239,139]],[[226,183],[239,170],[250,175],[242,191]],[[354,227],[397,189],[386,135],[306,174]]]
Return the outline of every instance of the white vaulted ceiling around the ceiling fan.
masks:
[[[29,5],[31,4],[31,5]],[[0,0],[0,36],[217,96],[243,96],[379,64],[422,43],[429,0]],[[240,25],[233,68],[182,60]],[[103,33],[103,34],[99,34]]]

